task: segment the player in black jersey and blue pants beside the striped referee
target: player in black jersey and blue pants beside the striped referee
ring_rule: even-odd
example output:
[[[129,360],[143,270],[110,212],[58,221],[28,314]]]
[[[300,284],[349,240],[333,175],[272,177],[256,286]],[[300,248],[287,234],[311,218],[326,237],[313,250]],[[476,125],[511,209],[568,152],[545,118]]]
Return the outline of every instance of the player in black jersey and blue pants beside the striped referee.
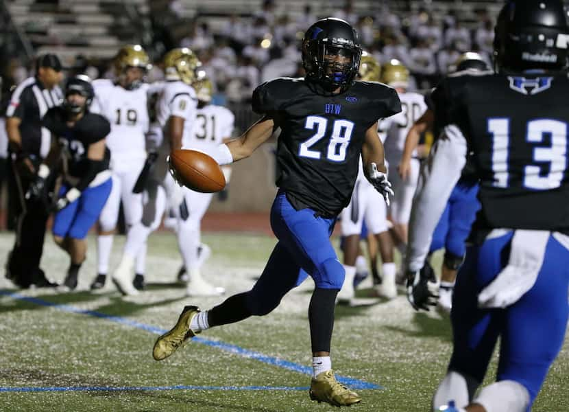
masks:
[[[51,139],[54,144],[46,162],[40,165],[29,196],[40,195],[50,174],[48,164],[59,157],[63,183],[54,207],[57,213],[52,232],[56,244],[71,258],[64,286],[73,290],[86,258],[85,237],[99,218],[112,187],[110,152],[105,146],[110,124],[101,115],[88,112],[95,93],[87,76],[69,79],[64,93],[62,106],[49,109],[43,118],[55,139]]]

